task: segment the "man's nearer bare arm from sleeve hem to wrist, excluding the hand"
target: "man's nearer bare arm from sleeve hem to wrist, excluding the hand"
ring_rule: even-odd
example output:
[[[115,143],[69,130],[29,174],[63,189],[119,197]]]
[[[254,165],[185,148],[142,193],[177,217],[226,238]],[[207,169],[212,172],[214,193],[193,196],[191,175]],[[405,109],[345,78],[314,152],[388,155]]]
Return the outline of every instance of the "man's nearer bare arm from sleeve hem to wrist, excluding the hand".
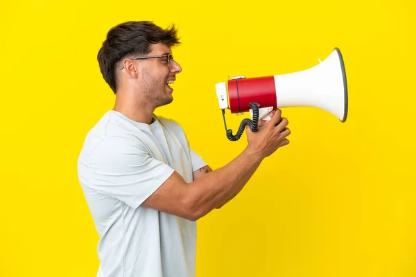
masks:
[[[246,148],[223,168],[205,172],[191,184],[173,172],[143,205],[189,220],[198,220],[241,190],[262,160],[260,154]]]

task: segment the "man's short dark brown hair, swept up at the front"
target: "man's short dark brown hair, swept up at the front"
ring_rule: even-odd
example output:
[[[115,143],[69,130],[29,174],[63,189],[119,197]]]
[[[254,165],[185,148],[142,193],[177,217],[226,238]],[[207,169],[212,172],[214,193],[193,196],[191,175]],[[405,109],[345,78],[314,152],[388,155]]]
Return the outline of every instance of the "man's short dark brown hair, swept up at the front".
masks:
[[[116,64],[130,55],[147,55],[150,44],[180,44],[175,26],[163,29],[153,21],[128,21],[112,27],[98,51],[101,74],[114,93],[117,91]]]

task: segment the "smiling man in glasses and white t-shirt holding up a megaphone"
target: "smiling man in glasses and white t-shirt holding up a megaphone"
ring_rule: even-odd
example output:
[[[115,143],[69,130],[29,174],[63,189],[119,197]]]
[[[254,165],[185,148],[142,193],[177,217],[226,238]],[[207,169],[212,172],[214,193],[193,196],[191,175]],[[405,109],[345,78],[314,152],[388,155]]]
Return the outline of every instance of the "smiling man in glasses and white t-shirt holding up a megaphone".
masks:
[[[180,65],[174,27],[130,21],[112,28],[98,52],[116,95],[89,131],[78,176],[100,237],[98,277],[195,276],[196,220],[232,199],[261,161],[287,145],[279,110],[223,168],[211,170],[173,119],[157,116],[172,102]]]

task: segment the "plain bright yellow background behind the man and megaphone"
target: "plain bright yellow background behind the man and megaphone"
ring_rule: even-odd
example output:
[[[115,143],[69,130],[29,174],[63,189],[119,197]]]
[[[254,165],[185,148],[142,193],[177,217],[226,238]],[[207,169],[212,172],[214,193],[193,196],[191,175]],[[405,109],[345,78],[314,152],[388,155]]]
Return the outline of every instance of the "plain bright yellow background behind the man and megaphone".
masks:
[[[185,9],[190,9],[189,11]],[[0,276],[95,276],[76,160],[114,95],[96,53],[128,20],[176,24],[175,118],[212,168],[227,141],[215,83],[345,59],[346,123],[286,108],[291,144],[198,222],[197,276],[416,276],[415,2],[3,1],[0,4]],[[227,112],[236,131],[244,116]]]

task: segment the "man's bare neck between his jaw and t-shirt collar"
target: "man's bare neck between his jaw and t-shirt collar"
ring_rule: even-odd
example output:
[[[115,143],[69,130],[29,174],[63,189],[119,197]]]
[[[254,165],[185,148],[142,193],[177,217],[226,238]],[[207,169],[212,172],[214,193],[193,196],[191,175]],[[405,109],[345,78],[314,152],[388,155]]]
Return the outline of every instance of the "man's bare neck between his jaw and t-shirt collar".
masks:
[[[119,111],[119,113],[136,122],[151,124],[155,107],[152,107],[147,101],[139,100],[135,97],[126,97],[127,95],[129,94],[121,91],[116,93],[113,111]]]

